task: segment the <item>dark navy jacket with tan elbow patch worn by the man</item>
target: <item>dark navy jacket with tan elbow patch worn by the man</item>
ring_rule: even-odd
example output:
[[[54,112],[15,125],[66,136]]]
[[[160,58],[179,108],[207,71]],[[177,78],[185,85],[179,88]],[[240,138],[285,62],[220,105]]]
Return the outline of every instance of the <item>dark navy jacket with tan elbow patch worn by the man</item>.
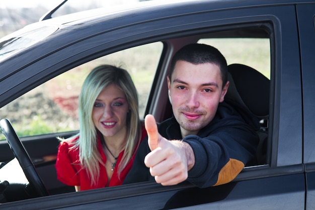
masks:
[[[182,139],[180,125],[174,116],[163,121],[158,128],[167,139]],[[255,164],[258,129],[258,119],[246,108],[220,103],[207,126],[197,135],[187,135],[183,139],[192,147],[195,155],[195,165],[188,172],[187,181],[202,188],[220,185],[233,180],[247,164]],[[144,157],[149,152],[146,137],[124,184],[154,180],[144,165]]]

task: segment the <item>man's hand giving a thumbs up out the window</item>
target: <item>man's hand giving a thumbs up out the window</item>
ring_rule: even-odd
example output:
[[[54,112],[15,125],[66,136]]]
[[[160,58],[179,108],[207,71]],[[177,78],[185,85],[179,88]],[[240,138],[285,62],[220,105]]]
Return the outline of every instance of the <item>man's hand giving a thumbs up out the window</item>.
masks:
[[[194,154],[189,144],[180,140],[164,138],[152,115],[144,119],[148,135],[148,146],[151,150],[144,158],[144,164],[150,168],[151,176],[162,185],[174,185],[185,181],[188,170],[194,165]]]

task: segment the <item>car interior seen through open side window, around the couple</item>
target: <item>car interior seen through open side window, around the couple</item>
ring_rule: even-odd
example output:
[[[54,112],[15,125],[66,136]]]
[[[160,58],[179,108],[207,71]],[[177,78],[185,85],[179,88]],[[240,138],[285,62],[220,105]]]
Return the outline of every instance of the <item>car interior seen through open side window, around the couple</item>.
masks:
[[[173,114],[166,84],[170,59],[179,48],[194,42],[215,46],[226,57],[230,81],[226,100],[243,104],[257,116],[261,124],[257,165],[268,164],[272,53],[268,24],[207,30],[142,43],[80,64],[0,108],[0,126],[4,132],[0,136],[3,139],[0,141],[0,162],[4,165],[0,169],[0,184],[6,185],[2,178],[7,173],[5,170],[11,170],[11,166],[19,167],[18,162],[28,180],[22,177],[19,178],[22,181],[9,181],[11,190],[0,202],[74,191],[73,186],[66,186],[56,179],[57,137],[66,138],[78,132],[77,97],[83,80],[94,66],[108,63],[128,69],[138,89],[140,118],[151,113],[156,116],[157,122],[161,122]],[[244,51],[238,51],[244,45]],[[248,57],[241,56],[244,54]],[[44,108],[34,107],[36,110],[28,111],[29,107],[18,106],[31,97]],[[17,106],[22,113],[20,116],[15,113]],[[53,113],[51,116],[50,111]],[[55,127],[52,128],[53,125]],[[31,132],[34,127],[41,129]],[[20,188],[23,192],[16,194]]]

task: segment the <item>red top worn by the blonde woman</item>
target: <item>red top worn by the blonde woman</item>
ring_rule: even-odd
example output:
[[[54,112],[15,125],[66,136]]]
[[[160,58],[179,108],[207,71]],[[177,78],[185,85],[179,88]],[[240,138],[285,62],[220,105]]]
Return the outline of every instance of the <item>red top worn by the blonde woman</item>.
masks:
[[[146,130],[144,127],[142,127],[141,141],[145,136],[146,136]],[[78,136],[76,138],[71,139],[70,142],[76,141],[77,138]],[[106,156],[103,152],[101,138],[99,135],[97,136],[97,144],[98,144],[99,153],[101,154],[101,158],[103,162],[105,163]],[[118,177],[117,166],[119,166],[120,164],[124,151],[122,151],[119,154],[118,159],[117,159],[117,164],[116,164],[117,166],[114,169],[112,178],[108,186],[116,186],[116,185],[121,185],[123,183],[127,173],[132,167],[135,153],[136,151],[134,151],[134,154],[131,160],[129,161],[129,163],[127,164],[127,166],[121,171],[120,177]],[[68,142],[62,142],[59,145],[58,156],[57,156],[57,161],[56,161],[56,171],[57,171],[57,179],[59,181],[70,186],[80,186],[81,190],[106,187],[108,183],[106,169],[102,164],[100,164],[100,178],[97,180],[97,183],[95,185],[92,185],[86,169],[82,168],[81,163],[79,161],[78,149],[69,150]]]

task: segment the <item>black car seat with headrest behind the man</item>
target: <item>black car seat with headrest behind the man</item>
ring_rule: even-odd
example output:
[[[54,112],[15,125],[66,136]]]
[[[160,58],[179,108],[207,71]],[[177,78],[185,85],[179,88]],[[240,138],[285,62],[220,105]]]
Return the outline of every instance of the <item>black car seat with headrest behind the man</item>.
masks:
[[[227,66],[230,82],[225,98],[244,105],[258,118],[260,142],[257,148],[258,164],[266,163],[270,80],[256,69],[244,64]]]

